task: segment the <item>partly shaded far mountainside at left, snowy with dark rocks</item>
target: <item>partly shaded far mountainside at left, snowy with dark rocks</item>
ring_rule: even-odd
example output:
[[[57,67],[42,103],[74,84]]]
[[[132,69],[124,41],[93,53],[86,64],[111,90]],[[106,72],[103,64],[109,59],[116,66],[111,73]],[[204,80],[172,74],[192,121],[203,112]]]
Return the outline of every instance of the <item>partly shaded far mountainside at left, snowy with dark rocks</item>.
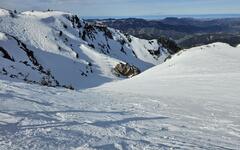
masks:
[[[124,35],[58,11],[0,9],[0,35],[2,53],[12,58],[0,57],[0,78],[34,83],[47,78],[52,86],[94,87],[117,79],[112,69],[119,62],[144,71],[169,56],[157,40]]]

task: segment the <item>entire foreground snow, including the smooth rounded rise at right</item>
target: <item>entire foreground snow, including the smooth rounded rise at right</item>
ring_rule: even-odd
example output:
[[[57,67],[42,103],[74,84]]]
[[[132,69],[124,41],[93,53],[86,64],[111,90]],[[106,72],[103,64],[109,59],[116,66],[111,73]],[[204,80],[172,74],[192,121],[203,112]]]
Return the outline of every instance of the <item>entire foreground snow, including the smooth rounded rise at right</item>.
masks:
[[[180,52],[71,91],[0,81],[0,149],[240,149],[240,48]]]

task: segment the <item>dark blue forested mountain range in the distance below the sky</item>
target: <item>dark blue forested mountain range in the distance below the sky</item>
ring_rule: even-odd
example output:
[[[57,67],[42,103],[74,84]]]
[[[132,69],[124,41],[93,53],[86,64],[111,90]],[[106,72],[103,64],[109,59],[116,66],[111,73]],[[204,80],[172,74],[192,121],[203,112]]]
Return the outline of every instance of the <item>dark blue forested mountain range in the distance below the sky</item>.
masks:
[[[232,46],[240,43],[240,18],[193,19],[168,17],[161,20],[138,18],[88,19],[144,39],[169,38],[182,48],[214,42]]]

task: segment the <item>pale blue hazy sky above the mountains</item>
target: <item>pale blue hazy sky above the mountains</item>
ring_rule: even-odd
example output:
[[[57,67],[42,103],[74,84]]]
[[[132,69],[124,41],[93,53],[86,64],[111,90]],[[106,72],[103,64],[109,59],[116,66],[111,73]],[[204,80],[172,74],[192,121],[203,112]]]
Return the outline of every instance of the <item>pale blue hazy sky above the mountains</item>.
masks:
[[[0,0],[0,7],[50,8],[80,16],[240,14],[240,0]]]

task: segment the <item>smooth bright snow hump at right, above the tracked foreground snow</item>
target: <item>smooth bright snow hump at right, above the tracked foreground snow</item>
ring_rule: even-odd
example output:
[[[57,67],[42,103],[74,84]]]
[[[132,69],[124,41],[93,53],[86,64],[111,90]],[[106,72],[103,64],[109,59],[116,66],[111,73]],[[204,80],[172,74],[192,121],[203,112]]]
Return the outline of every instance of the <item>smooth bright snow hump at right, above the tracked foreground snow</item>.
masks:
[[[125,81],[110,83],[117,91],[151,95],[226,96],[237,99],[240,48],[214,43],[181,51],[165,63]],[[127,86],[127,88],[125,87]],[[103,86],[107,89],[108,84]]]

